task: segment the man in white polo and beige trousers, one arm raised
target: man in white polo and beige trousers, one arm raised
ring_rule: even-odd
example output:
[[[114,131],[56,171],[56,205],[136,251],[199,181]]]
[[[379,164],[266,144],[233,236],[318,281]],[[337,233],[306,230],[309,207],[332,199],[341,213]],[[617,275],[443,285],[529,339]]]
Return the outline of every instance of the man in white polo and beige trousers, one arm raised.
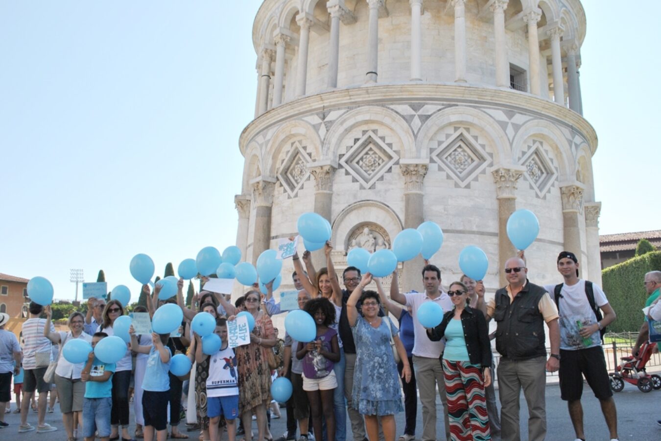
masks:
[[[441,290],[441,270],[437,266],[426,264],[422,268],[424,292],[407,292],[401,294],[397,289],[397,271],[393,272],[390,297],[392,300],[410,307],[413,317],[413,367],[418,383],[420,403],[422,403],[422,441],[436,440],[436,387],[443,403],[444,426],[446,439],[450,438],[449,420],[447,418],[446,383],[443,378],[443,367],[439,361],[444,348],[443,341],[430,341],[420,321],[418,308],[425,301],[434,301],[443,308],[443,312],[452,309],[452,301]]]

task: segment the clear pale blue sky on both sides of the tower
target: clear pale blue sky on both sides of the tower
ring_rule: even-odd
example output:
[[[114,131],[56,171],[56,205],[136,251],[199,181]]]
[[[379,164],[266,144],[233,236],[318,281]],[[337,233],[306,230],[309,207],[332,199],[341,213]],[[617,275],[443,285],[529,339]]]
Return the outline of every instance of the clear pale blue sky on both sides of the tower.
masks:
[[[0,272],[110,288],[234,245],[260,0],[0,1]],[[583,1],[601,233],[658,229],[661,2]],[[635,32],[633,32],[635,31]]]

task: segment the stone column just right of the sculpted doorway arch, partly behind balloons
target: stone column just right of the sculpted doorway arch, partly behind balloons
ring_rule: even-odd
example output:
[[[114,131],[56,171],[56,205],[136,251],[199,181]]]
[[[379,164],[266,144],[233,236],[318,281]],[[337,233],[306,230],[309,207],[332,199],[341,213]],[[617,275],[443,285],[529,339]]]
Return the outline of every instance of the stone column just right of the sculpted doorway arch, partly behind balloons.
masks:
[[[404,160],[402,160],[404,161]],[[424,192],[422,183],[429,169],[429,164],[400,163],[399,171],[404,177],[404,227],[417,228],[424,222]],[[424,266],[424,259],[418,255],[415,259],[404,262],[402,270],[401,288],[408,292],[416,290],[422,292],[422,276],[420,271]]]

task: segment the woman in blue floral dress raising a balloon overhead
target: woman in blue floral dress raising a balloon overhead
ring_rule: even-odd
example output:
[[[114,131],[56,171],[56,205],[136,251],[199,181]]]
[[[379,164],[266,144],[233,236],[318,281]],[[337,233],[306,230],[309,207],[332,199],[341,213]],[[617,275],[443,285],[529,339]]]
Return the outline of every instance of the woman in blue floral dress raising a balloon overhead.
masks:
[[[356,343],[356,367],[352,405],[365,417],[369,441],[379,438],[379,421],[385,441],[394,441],[395,413],[404,410],[397,364],[391,349],[395,342],[397,354],[404,361],[402,378],[410,381],[411,370],[407,351],[397,336],[397,328],[388,317],[379,317],[381,301],[375,291],[363,291],[371,282],[371,274],[364,274],[356,290],[346,301],[346,314]],[[362,302],[362,316],[356,304]]]

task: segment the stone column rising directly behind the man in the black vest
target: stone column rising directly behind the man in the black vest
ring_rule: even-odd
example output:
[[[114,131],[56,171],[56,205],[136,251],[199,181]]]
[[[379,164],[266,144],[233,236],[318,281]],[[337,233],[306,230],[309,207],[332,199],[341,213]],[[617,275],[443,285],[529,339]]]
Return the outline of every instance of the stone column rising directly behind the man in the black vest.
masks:
[[[499,286],[505,286],[507,280],[502,268],[510,257],[516,256],[516,248],[507,236],[507,221],[516,210],[516,186],[523,176],[523,169],[506,169],[500,167],[493,170],[496,184],[496,199],[498,200],[498,276]]]

